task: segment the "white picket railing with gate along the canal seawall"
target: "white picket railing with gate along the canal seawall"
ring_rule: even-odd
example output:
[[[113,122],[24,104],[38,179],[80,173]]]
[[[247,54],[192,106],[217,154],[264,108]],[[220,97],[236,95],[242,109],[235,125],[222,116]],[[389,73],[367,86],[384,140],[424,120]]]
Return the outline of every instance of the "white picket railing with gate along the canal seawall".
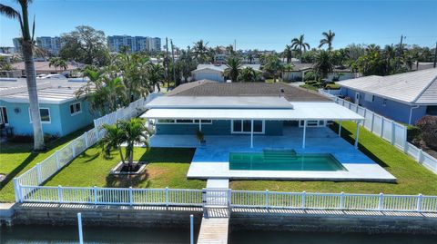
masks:
[[[19,186],[20,202],[81,203],[121,206],[229,206],[249,209],[378,210],[437,212],[437,196]],[[216,202],[217,201],[217,202]]]

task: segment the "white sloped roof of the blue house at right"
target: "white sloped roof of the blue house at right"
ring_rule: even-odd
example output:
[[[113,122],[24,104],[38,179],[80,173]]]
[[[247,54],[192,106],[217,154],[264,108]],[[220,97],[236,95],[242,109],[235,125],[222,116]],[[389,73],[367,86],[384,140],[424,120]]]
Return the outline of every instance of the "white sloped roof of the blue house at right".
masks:
[[[404,103],[437,103],[437,68],[388,76],[365,76],[340,86]]]

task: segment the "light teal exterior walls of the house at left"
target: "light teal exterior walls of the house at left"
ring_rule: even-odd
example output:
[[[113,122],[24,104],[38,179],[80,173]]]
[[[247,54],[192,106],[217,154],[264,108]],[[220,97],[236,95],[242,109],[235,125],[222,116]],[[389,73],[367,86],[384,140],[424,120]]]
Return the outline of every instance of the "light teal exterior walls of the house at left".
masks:
[[[61,104],[40,103],[40,108],[48,108],[50,112],[50,122],[42,122],[43,132],[50,135],[64,136],[92,123],[95,116],[89,112],[88,103],[84,100],[80,100],[82,112],[75,115],[70,113],[70,104],[75,102],[79,101],[75,100]],[[13,128],[14,134],[33,134],[28,103],[0,100],[0,107],[5,107],[8,126]]]

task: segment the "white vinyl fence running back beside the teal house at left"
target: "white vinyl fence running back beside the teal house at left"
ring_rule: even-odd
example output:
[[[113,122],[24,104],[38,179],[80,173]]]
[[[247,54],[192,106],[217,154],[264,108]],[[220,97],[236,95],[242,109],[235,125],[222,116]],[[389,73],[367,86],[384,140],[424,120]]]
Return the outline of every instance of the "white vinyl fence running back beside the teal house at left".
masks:
[[[98,118],[94,121],[94,128],[85,132],[83,135],[77,137],[72,142],[66,144],[65,147],[50,155],[46,160],[36,164],[35,167],[25,171],[22,175],[14,179],[15,192],[18,191],[19,186],[38,186],[44,181],[52,177],[57,171],[61,170],[68,162],[76,158],[77,155],[86,151],[87,148],[93,146],[104,135],[105,131],[101,129],[103,124],[113,124],[117,120],[135,117],[144,112],[145,104],[155,97],[157,93],[152,93],[147,96],[147,99],[139,99],[130,103],[125,108],[120,108],[116,112],[108,113],[107,115]],[[27,191],[22,191],[22,196],[25,196]],[[15,201],[18,197],[15,193]]]

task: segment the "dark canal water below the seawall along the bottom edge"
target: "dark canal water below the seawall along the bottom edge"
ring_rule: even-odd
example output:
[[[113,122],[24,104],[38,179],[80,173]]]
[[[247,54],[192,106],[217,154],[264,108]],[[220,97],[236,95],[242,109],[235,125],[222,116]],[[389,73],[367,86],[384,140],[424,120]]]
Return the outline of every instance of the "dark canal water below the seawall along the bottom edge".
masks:
[[[197,228],[198,229],[198,228]],[[86,243],[189,243],[189,229],[146,229],[126,227],[86,227]],[[0,243],[77,243],[76,227],[14,226],[1,227]],[[229,244],[435,244],[437,236],[367,235],[310,232],[233,231]]]

